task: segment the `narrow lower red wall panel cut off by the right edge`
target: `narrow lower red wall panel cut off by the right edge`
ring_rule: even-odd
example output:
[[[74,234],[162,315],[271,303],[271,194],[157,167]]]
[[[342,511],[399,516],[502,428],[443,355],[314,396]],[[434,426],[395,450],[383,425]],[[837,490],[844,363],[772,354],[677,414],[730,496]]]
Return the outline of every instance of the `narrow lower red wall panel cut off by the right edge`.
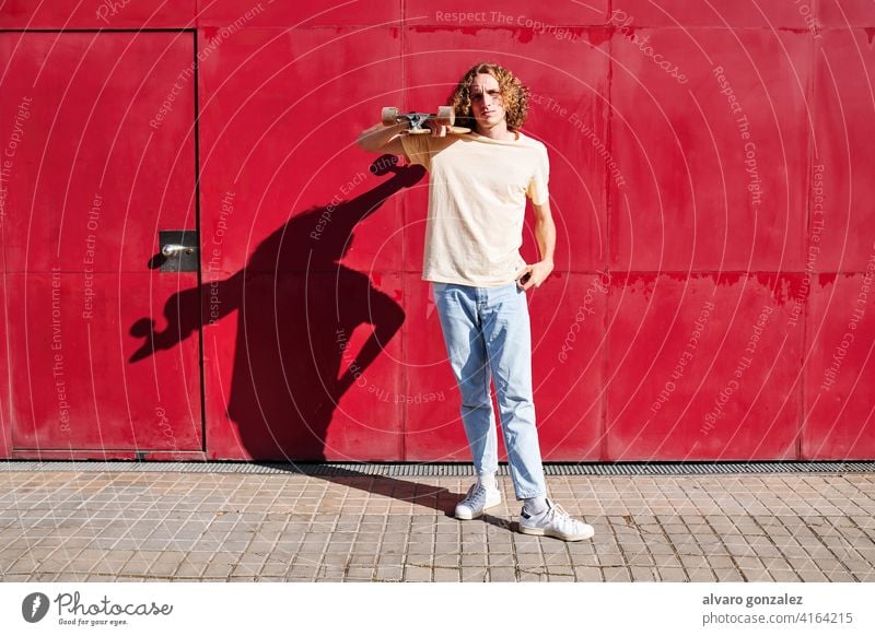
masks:
[[[812,284],[805,348],[805,459],[875,457],[875,245],[861,274],[820,274]]]

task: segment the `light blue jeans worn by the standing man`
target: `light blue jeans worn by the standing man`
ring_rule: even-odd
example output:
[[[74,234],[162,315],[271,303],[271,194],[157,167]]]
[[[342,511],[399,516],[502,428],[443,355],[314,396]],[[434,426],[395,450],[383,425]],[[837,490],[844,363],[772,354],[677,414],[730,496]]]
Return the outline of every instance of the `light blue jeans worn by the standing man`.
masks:
[[[462,393],[462,421],[478,475],[498,470],[494,380],[508,462],[517,499],[546,496],[535,403],[532,332],[526,293],[501,287],[432,283],[453,374]]]

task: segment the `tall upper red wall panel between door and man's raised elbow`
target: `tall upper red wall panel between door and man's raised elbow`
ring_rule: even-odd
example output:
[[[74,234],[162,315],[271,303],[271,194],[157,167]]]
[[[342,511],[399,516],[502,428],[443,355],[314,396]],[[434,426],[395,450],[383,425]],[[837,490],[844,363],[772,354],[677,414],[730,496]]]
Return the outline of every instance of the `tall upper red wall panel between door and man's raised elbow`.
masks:
[[[220,51],[200,67],[201,215],[219,248],[205,271],[330,271],[341,256],[360,271],[398,270],[401,216],[386,197],[410,175],[354,148],[362,122],[400,95],[398,32],[247,30]],[[288,258],[253,261],[287,223]]]

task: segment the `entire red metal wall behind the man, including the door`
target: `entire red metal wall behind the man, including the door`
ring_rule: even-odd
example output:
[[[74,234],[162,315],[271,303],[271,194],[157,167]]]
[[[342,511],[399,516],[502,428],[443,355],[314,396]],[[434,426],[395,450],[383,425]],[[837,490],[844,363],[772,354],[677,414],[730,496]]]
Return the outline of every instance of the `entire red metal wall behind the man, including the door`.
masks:
[[[33,4],[0,9],[0,456],[467,460],[427,178],[354,139],[487,59],[551,157],[546,459],[875,457],[871,2]]]

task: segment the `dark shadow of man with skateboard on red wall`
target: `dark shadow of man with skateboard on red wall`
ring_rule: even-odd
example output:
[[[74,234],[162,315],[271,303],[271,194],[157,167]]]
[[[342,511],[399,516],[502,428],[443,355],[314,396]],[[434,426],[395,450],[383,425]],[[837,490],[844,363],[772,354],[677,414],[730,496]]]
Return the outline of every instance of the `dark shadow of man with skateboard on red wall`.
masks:
[[[421,166],[396,162],[392,155],[377,158],[371,172],[392,176],[361,196],[292,216],[241,271],[174,294],[164,306],[164,330],[156,331],[150,318],[137,320],[131,334],[144,342],[130,362],[194,333],[201,308],[205,325],[237,310],[228,416],[242,446],[262,461],[325,460],[338,402],[405,319],[400,305],[368,274],[341,262],[355,225],[423,177]],[[372,325],[373,333],[351,352],[351,334],[363,323]]]

